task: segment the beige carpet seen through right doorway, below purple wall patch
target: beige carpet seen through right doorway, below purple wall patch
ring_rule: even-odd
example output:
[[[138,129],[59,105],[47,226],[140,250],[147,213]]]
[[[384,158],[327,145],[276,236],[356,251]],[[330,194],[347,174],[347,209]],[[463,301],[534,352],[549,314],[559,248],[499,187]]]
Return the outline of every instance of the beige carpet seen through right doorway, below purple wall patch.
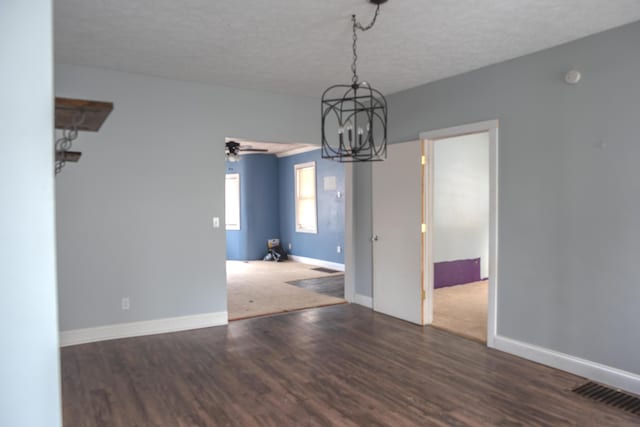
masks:
[[[486,342],[488,289],[486,280],[435,289],[433,326]]]

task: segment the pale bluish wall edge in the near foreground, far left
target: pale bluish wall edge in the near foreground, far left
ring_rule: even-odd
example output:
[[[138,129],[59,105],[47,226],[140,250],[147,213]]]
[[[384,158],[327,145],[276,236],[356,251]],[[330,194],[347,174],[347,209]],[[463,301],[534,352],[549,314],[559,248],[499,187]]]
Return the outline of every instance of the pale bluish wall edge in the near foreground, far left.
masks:
[[[0,2],[0,425],[59,426],[50,0]]]

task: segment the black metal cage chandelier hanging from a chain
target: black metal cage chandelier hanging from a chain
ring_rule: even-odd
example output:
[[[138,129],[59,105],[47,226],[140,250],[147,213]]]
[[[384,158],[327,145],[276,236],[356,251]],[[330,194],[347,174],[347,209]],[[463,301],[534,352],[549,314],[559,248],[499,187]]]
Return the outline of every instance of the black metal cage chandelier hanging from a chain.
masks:
[[[359,81],[356,62],[357,31],[370,30],[380,5],[387,0],[369,0],[376,5],[373,20],[363,26],[351,15],[353,62],[351,84],[334,85],[322,94],[322,158],[340,162],[380,161],[387,157],[387,100],[367,82]]]

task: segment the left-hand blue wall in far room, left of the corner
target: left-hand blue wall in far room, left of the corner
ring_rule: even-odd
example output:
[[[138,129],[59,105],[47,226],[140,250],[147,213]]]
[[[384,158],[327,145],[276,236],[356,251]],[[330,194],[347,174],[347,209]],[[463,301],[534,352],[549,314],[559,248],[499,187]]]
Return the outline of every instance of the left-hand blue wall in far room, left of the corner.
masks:
[[[262,259],[267,240],[280,235],[278,158],[250,154],[227,162],[227,173],[240,174],[240,230],[227,230],[227,259]]]

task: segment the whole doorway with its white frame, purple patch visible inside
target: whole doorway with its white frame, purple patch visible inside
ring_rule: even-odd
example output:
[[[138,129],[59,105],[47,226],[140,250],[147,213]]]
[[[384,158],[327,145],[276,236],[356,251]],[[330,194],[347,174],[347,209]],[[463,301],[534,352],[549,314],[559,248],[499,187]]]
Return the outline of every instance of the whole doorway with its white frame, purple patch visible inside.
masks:
[[[425,323],[489,346],[496,335],[497,121],[420,135]]]

